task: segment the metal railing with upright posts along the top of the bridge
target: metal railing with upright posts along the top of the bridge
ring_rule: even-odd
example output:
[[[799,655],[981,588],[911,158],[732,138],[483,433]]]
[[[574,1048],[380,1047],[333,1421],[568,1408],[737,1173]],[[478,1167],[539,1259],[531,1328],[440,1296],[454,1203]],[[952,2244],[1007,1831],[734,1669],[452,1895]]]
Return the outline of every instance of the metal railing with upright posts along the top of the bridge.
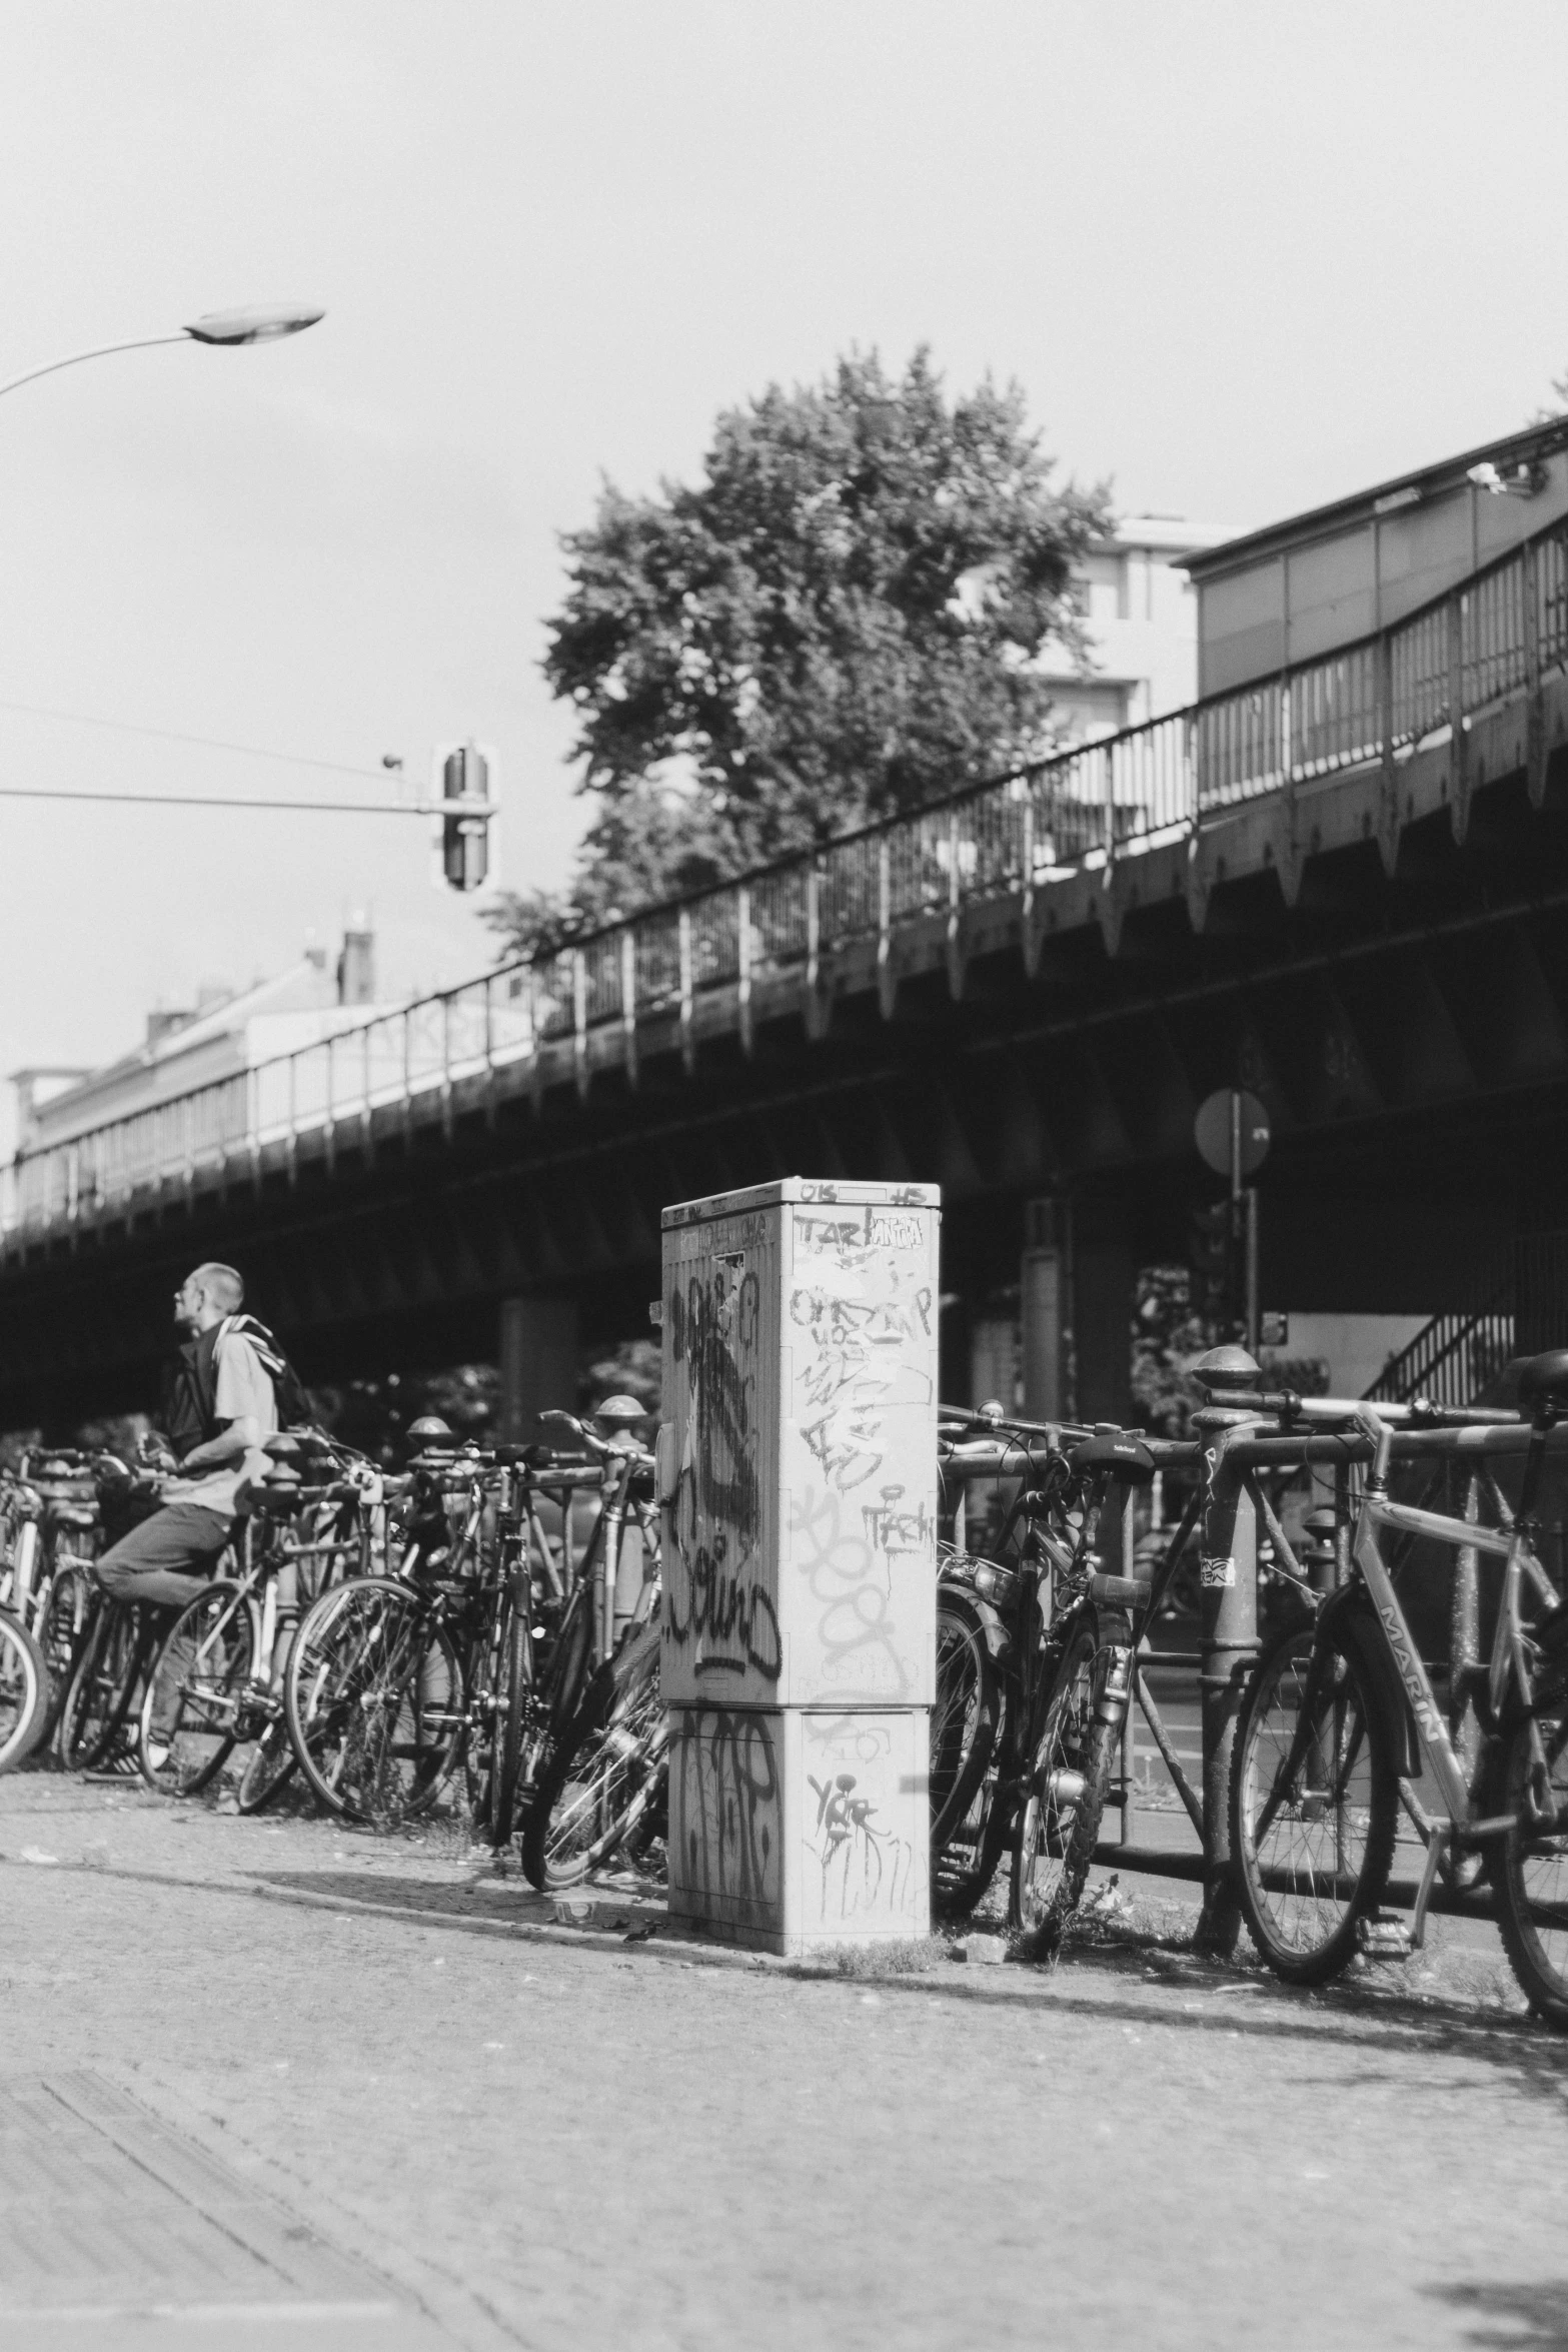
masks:
[[[1420,612],[1319,661],[1295,663],[1168,717],[971,786],[741,882],[625,922],[362,1028],[113,1120],[2,1171],[0,1242],[113,1211],[143,1192],[247,1162],[303,1136],[334,1148],[397,1105],[451,1105],[454,1087],[571,1042],[635,1056],[637,1025],[729,993],[816,981],[818,960],[903,924],[1048,889],[1208,830],[1248,802],[1338,769],[1394,762],[1568,663],[1568,520],[1486,564]]]

